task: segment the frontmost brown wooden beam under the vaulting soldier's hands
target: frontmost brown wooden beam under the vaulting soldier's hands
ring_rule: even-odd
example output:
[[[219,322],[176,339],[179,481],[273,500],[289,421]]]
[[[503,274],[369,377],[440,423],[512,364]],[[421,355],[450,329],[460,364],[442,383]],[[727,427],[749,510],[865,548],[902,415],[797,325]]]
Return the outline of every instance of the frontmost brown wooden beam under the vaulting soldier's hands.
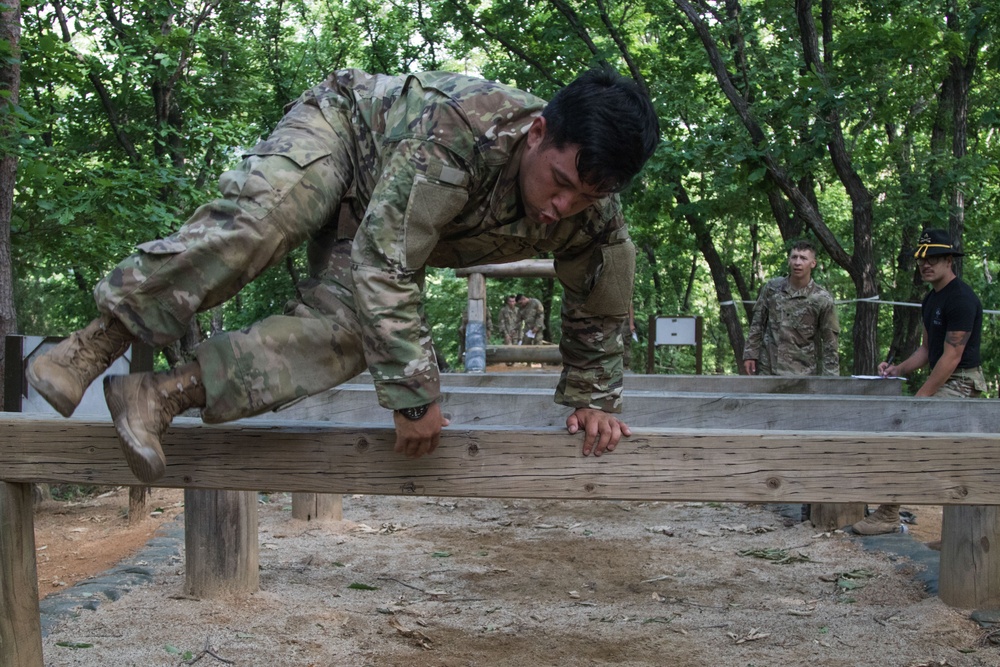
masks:
[[[643,429],[583,457],[565,429],[448,428],[431,456],[393,452],[384,426],[178,419],[158,486],[722,502],[1000,505],[988,434]],[[107,423],[7,413],[0,479],[135,484]]]

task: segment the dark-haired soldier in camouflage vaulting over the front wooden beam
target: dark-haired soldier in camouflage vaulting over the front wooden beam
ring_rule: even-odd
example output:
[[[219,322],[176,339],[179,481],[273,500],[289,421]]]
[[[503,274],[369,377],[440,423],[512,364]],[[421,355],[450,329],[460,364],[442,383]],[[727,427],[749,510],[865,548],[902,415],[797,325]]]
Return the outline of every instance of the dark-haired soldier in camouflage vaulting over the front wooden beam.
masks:
[[[160,439],[201,408],[249,417],[367,369],[394,411],[396,451],[434,451],[448,425],[423,318],[425,267],[551,253],[563,284],[563,374],[583,453],[611,451],[626,424],[618,331],[635,246],[615,195],[659,140],[631,80],[584,74],[545,102],[458,74],[341,70],[307,90],[274,132],[219,180],[221,197],[166,239],[138,246],[95,288],[100,316],[28,369],[65,416],[133,340],[161,347],[309,243],[309,277],[284,315],[201,343],[195,361],[105,378],[125,459],[144,483],[165,472]]]

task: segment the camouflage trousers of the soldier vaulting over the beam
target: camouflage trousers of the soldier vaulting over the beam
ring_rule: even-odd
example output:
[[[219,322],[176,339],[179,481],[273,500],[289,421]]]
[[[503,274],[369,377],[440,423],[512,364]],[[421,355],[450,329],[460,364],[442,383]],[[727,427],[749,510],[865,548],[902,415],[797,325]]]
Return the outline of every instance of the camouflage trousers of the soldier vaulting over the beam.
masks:
[[[222,196],[166,239],[143,243],[95,288],[99,309],[141,340],[164,346],[196,313],[234,296],[293,248],[334,229],[354,178],[349,113],[335,97],[300,100],[274,133],[219,180]],[[346,109],[346,102],[345,109]],[[284,315],[198,346],[207,405],[223,422],[336,386],[365,369],[350,241],[300,284]]]

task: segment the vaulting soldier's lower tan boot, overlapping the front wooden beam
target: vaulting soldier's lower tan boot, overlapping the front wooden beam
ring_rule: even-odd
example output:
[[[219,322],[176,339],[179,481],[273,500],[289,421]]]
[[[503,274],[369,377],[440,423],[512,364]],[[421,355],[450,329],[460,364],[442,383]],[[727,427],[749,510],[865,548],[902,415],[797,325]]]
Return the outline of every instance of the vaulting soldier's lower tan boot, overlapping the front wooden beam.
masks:
[[[162,373],[109,375],[104,397],[128,467],[151,484],[167,469],[160,438],[170,422],[188,408],[205,407],[201,366],[192,362]]]

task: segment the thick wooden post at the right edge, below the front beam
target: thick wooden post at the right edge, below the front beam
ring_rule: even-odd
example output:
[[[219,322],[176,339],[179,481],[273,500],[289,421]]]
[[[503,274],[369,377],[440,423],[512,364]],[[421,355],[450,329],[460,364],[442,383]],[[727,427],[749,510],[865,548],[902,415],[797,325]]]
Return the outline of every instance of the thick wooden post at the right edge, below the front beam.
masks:
[[[1000,507],[946,505],[941,517],[941,601],[1000,609]]]

